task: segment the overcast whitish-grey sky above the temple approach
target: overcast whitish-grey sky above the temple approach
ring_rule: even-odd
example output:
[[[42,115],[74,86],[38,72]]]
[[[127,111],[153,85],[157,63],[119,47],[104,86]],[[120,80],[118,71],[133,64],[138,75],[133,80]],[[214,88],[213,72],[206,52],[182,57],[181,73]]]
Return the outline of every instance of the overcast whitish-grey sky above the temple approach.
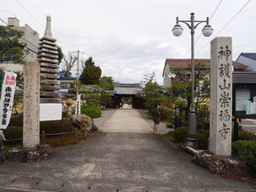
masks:
[[[102,75],[120,83],[137,83],[146,73],[161,74],[166,58],[190,58],[190,31],[174,37],[176,17],[206,20],[212,16],[212,36],[201,36],[195,58],[210,58],[210,41],[248,0],[1,0],[0,18],[17,17],[44,36],[46,16],[52,18],[52,34],[63,52],[80,50],[81,59],[92,56]],[[252,0],[218,36],[233,38],[233,60],[241,52],[256,51],[256,1]],[[195,30],[195,39],[204,24]]]

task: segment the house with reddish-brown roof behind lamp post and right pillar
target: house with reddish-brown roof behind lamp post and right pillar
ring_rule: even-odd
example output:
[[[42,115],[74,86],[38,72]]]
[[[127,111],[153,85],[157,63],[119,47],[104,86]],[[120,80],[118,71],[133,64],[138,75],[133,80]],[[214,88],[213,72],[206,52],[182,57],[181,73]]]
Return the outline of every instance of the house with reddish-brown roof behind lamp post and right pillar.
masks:
[[[206,64],[204,67],[205,69],[211,68],[210,59],[195,59],[195,63],[197,62],[205,63]],[[166,59],[164,71],[162,74],[162,77],[164,79],[164,88],[171,87],[173,84],[173,81],[175,81],[178,78],[175,76],[175,74],[171,73],[171,69],[174,67],[185,68],[186,71],[184,71],[183,75],[185,76],[186,79],[190,79],[191,67],[189,67],[189,63],[191,63],[190,59]],[[239,62],[233,61],[233,68],[235,72],[242,72],[245,69],[247,69],[247,66]],[[205,78],[210,79],[210,74],[207,74]]]

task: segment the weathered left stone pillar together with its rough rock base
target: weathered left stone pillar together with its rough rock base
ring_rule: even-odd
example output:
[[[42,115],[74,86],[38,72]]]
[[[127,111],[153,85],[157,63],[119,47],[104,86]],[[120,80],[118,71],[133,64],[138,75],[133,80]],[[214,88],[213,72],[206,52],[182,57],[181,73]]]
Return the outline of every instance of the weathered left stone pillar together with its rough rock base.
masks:
[[[24,65],[23,148],[13,148],[7,153],[11,161],[38,162],[51,154],[49,145],[40,145],[40,64],[27,61]]]

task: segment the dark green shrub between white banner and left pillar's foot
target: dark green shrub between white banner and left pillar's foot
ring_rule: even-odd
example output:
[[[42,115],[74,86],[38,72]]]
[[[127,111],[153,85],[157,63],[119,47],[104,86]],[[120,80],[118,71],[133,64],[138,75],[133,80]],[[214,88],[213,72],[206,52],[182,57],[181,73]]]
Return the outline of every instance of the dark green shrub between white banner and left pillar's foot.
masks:
[[[22,126],[8,126],[7,129],[3,130],[3,135],[6,140],[22,138],[23,137]],[[7,145],[17,144],[17,143],[22,143],[22,139],[4,142],[4,144],[7,144]]]

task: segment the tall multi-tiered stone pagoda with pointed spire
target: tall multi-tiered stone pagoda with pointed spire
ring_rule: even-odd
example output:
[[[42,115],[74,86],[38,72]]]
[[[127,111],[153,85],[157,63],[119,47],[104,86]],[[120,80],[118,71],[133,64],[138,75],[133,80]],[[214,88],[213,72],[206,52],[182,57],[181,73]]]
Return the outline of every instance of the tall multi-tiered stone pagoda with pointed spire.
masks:
[[[57,75],[59,73],[58,48],[55,44],[56,39],[52,38],[50,21],[50,16],[47,16],[44,37],[40,38],[38,47],[38,61],[41,65],[40,73],[45,78],[42,81],[44,85],[41,85],[41,90],[44,90],[40,96],[41,103],[61,102],[60,95],[56,92],[60,90],[58,86],[60,77]]]

